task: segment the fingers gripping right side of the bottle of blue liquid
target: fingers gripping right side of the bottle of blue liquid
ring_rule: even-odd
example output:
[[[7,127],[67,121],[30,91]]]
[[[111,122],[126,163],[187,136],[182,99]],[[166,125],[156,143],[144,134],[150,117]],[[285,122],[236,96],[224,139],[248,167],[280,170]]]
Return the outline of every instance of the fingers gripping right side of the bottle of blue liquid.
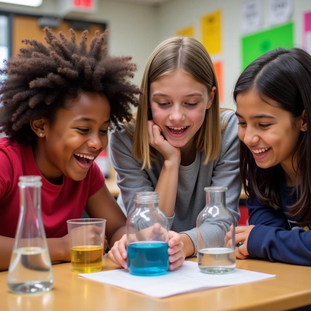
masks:
[[[169,231],[169,270],[174,270],[183,264],[186,256],[182,250],[183,242],[181,241],[180,234],[175,231]]]

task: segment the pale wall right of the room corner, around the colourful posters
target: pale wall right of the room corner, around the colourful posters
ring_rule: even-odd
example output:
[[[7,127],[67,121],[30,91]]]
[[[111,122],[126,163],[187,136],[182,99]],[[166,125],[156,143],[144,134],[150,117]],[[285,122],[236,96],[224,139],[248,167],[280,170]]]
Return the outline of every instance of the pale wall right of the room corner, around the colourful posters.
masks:
[[[200,17],[215,10],[222,10],[222,52],[212,60],[223,61],[224,100],[222,105],[234,108],[232,90],[241,72],[240,0],[171,0],[157,8],[157,42],[175,35],[177,29],[194,25],[196,39],[201,40]],[[268,0],[262,0],[264,21],[261,30],[268,29]],[[301,45],[303,38],[303,13],[311,11],[311,1],[293,0],[294,42]]]

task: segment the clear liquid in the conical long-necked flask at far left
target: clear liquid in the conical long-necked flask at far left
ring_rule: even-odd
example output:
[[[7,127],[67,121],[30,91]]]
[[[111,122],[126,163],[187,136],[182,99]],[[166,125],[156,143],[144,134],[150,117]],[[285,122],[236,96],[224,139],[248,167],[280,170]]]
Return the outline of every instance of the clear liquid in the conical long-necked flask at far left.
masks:
[[[9,289],[16,293],[49,290],[53,285],[53,275],[48,250],[41,247],[15,249],[7,284]]]

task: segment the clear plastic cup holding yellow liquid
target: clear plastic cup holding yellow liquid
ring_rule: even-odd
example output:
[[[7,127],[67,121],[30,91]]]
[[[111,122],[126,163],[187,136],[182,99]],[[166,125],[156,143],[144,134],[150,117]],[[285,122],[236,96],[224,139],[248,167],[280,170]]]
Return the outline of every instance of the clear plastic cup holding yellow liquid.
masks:
[[[72,271],[97,272],[103,263],[106,220],[82,218],[67,220]]]

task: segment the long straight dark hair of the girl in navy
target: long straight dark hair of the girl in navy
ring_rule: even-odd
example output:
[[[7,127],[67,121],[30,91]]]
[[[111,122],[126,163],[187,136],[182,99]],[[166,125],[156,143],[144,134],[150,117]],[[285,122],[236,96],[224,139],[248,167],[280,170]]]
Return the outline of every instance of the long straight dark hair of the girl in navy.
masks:
[[[292,120],[299,118],[305,109],[306,121],[311,124],[311,56],[302,49],[278,48],[265,53],[249,64],[234,88],[234,100],[241,92],[251,89],[266,102],[277,102],[278,107],[290,113]],[[297,202],[289,206],[288,215],[296,217],[300,225],[311,223],[311,135],[310,128],[300,132],[299,143],[292,157],[298,166]],[[281,208],[279,196],[281,165],[262,169],[248,147],[240,141],[240,178],[247,195],[255,193],[258,200],[274,209]],[[294,167],[294,165],[293,165]],[[303,176],[302,176],[303,174]],[[303,178],[301,178],[303,177]],[[247,183],[248,179],[248,183]],[[299,184],[298,184],[299,183]]]

